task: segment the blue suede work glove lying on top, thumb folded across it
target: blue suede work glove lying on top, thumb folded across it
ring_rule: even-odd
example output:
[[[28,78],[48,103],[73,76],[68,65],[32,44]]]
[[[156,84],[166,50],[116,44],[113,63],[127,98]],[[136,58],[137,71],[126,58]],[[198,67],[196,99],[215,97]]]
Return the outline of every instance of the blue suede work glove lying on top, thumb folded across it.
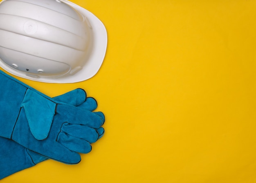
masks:
[[[2,71],[0,85],[0,137],[67,164],[81,161],[78,152],[90,152],[95,129],[105,121],[102,112],[59,102]]]

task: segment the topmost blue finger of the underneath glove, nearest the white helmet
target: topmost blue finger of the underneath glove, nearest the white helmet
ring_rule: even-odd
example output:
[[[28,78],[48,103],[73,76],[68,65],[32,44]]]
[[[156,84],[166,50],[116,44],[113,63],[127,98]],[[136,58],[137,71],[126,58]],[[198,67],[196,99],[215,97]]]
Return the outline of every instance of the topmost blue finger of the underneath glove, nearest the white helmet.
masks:
[[[72,106],[79,106],[86,100],[86,92],[81,88],[77,88],[70,92],[64,93],[63,95],[53,97],[53,99]]]

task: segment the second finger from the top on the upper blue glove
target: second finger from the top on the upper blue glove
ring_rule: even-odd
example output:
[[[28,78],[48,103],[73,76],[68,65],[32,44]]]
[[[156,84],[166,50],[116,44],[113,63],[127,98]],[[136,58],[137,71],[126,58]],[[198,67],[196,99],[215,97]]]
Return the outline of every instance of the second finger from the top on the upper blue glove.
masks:
[[[83,125],[64,123],[61,131],[73,137],[84,139],[89,143],[94,143],[99,138],[99,134],[95,129]]]

